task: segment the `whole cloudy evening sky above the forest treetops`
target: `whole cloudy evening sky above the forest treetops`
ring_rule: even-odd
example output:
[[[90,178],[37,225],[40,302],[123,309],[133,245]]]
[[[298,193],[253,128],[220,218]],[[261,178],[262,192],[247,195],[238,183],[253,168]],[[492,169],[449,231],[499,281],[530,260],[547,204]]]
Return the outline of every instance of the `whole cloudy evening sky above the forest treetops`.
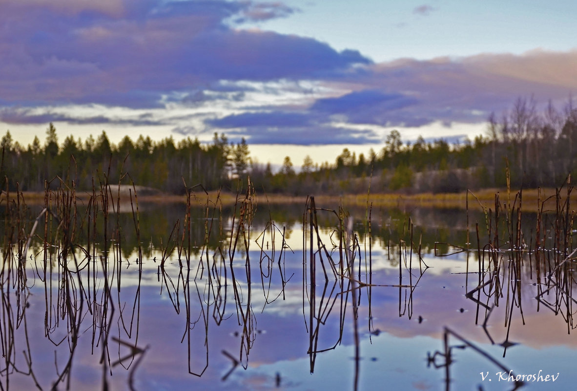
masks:
[[[209,142],[253,159],[473,138],[519,97],[577,91],[577,3],[0,0],[0,133],[106,131]]]

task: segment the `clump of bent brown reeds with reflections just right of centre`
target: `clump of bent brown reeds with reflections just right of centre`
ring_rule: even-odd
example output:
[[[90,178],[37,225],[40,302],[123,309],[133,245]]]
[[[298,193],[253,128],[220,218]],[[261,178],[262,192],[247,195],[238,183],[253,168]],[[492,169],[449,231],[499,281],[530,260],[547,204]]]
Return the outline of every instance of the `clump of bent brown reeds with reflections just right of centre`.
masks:
[[[336,229],[323,233],[319,226],[318,214],[326,213],[334,217]],[[370,207],[366,222],[366,231],[371,234]],[[415,248],[413,241],[413,226],[407,232],[400,234],[398,245],[398,284],[374,284],[372,273],[371,241],[364,243],[362,251],[359,236],[353,231],[354,219],[342,207],[339,210],[317,207],[314,197],[310,197],[303,218],[303,314],[309,333],[309,363],[310,373],[314,373],[319,353],[336,349],[343,342],[343,336],[350,330],[347,328],[347,310],[351,312],[351,328],[354,341],[354,381],[353,389],[357,390],[360,379],[360,363],[362,359],[361,326],[359,325],[359,310],[366,310],[368,325],[366,331],[369,339],[378,336],[379,329],[374,329],[372,312],[372,292],[374,288],[399,289],[399,316],[413,315],[413,293],[424,271],[428,268],[421,257],[421,250]],[[408,235],[407,239],[404,236]],[[409,245],[407,245],[407,243]],[[367,250],[368,247],[368,250]],[[390,247],[390,246],[389,246]],[[413,251],[419,258],[419,275],[413,280]],[[408,252],[408,256],[407,256]],[[364,255],[363,255],[364,254]],[[317,266],[320,265],[320,269]],[[404,267],[403,267],[404,265]],[[409,275],[409,284],[403,284],[403,274]],[[322,289],[319,290],[319,287]],[[366,304],[362,301],[366,294]],[[404,295],[403,295],[404,293]],[[403,304],[404,300],[404,304]],[[364,306],[366,305],[366,309]],[[331,337],[324,336],[331,327],[330,318],[338,321],[338,333]],[[308,319],[308,321],[307,321]],[[324,332],[324,330],[327,332]],[[322,337],[322,338],[321,338]],[[332,342],[331,342],[332,341]],[[327,343],[328,342],[328,343]]]

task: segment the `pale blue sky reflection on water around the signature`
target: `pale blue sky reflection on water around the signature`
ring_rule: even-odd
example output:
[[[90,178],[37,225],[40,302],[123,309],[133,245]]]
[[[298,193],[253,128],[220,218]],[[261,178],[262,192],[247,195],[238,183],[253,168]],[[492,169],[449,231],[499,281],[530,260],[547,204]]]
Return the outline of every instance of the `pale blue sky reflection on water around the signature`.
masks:
[[[478,345],[500,359],[502,350],[488,344]],[[359,369],[359,389],[396,390],[440,390],[444,389],[444,369],[434,370],[426,366],[426,354],[442,349],[441,341],[432,337],[398,338],[390,334],[372,337],[372,343],[365,338],[361,343],[361,366]],[[500,360],[514,369],[515,374],[546,374],[557,375],[555,382],[530,382],[524,389],[571,389],[574,382],[572,376],[572,358],[575,350],[564,347],[547,348],[544,350],[526,347],[515,348],[517,354],[509,360]],[[513,350],[512,350],[513,351]],[[511,351],[511,353],[512,353]],[[343,346],[340,349],[324,353],[317,359],[314,374],[303,377],[309,370],[309,359],[279,360],[255,368],[254,371],[237,372],[233,379],[238,389],[269,389],[271,380],[276,373],[282,374],[283,389],[317,390],[317,389],[353,389],[354,382],[354,346]],[[473,351],[456,350],[454,366],[451,367],[451,389],[476,389],[481,384],[486,390],[511,389],[512,383],[499,381],[498,372],[501,368],[495,366]],[[485,381],[481,380],[481,372],[489,373]],[[268,383],[258,384],[259,379],[268,379]],[[489,382],[489,379],[491,381]]]

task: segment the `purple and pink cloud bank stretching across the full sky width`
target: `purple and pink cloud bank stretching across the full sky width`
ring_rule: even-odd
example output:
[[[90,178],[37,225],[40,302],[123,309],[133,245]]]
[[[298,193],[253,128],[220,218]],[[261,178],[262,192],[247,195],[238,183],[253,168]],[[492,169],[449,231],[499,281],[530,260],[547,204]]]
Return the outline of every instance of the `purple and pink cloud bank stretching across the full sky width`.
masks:
[[[0,8],[0,29],[10,32],[0,34],[0,121],[9,124],[379,142],[379,126],[482,123],[518,96],[562,104],[577,90],[577,50],[374,64],[356,50],[243,25],[298,11],[281,2],[0,0]],[[91,105],[104,109],[68,107]]]

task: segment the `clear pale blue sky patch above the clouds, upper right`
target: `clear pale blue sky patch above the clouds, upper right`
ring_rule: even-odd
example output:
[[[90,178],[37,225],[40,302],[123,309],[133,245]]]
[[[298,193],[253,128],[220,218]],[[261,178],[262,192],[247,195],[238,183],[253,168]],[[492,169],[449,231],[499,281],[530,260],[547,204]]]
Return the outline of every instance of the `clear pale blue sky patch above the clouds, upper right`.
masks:
[[[514,53],[538,47],[575,47],[571,1],[288,1],[300,10],[261,27],[355,48],[376,62],[479,53]]]

